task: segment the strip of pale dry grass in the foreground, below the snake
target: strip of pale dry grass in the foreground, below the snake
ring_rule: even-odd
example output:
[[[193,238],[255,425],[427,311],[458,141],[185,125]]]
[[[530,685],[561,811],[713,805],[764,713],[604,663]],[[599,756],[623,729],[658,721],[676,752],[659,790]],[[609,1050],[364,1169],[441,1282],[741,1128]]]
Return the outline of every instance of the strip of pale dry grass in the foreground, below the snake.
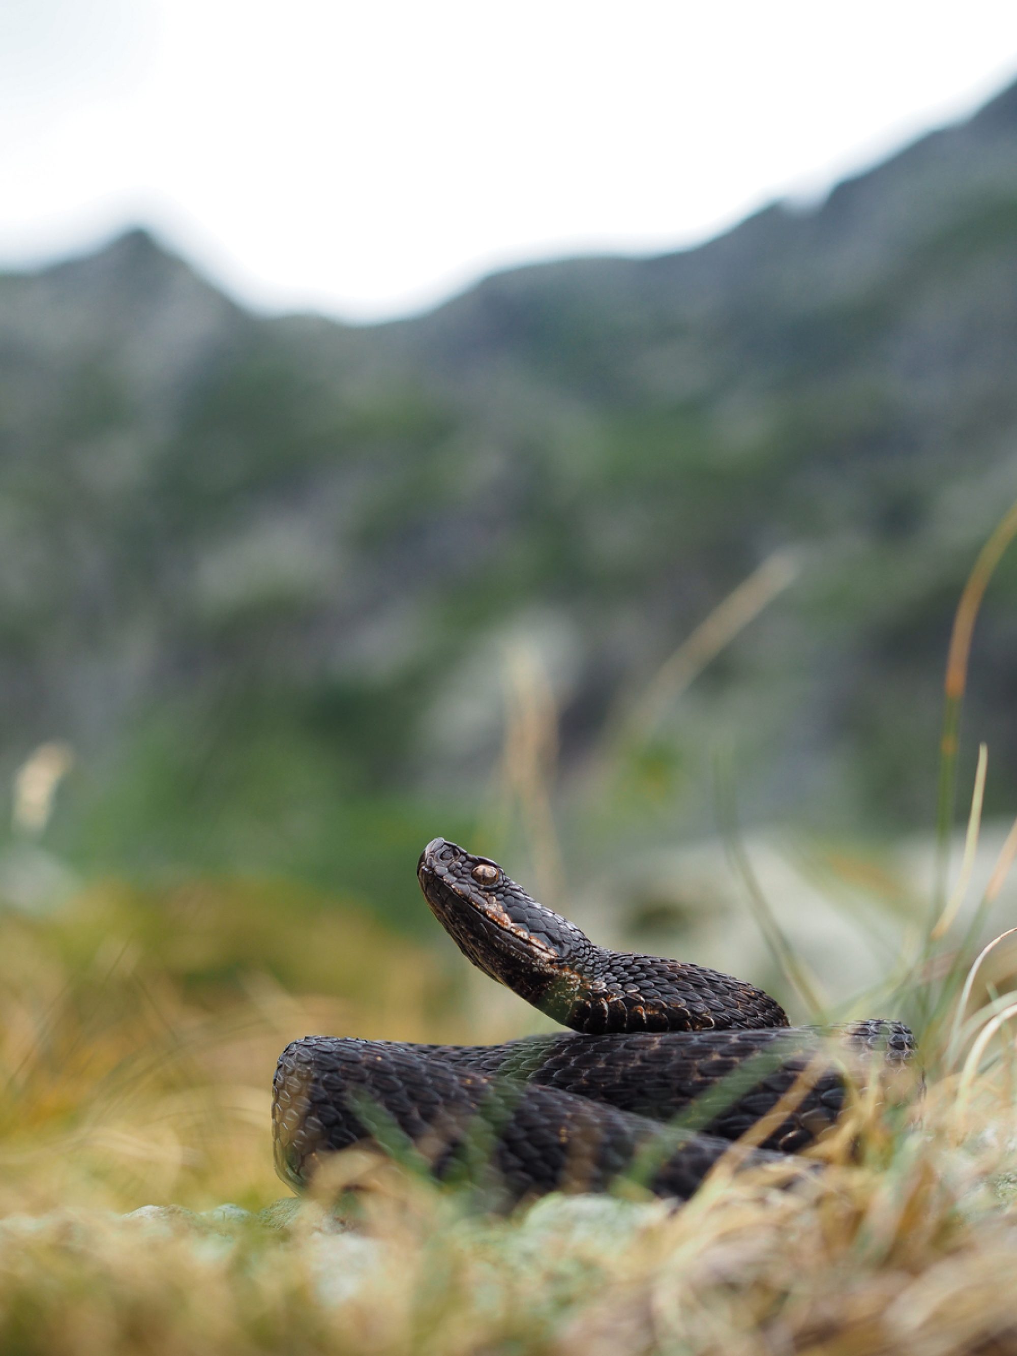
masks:
[[[921,1132],[774,1191],[712,1182],[681,1211],[548,1197],[510,1218],[389,1165],[347,1163],[355,1231],[69,1207],[0,1226],[4,1351],[810,1353],[1017,1349],[1017,1170],[946,1082]],[[869,1146],[872,1147],[872,1146]],[[357,1155],[351,1155],[357,1157]],[[239,1214],[239,1212],[237,1212]]]

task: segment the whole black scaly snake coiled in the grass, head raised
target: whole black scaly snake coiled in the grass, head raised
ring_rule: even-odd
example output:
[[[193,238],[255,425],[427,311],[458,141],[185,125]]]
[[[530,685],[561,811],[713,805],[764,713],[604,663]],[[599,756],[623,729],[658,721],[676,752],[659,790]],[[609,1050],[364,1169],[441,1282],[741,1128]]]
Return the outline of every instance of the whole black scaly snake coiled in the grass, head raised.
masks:
[[[837,1123],[843,1070],[864,1081],[914,1067],[900,1022],[788,1025],[762,990],[701,965],[597,946],[496,862],[435,838],[424,898],[460,949],[571,1033],[503,1045],[412,1045],[308,1036],[274,1081],[275,1163],[304,1185],[321,1157],[359,1140],[411,1142],[445,1177],[484,1146],[484,1169],[515,1201],[603,1191],[643,1165],[685,1199],[769,1116],[750,1166],[785,1165]],[[797,1096],[795,1096],[797,1093]]]

